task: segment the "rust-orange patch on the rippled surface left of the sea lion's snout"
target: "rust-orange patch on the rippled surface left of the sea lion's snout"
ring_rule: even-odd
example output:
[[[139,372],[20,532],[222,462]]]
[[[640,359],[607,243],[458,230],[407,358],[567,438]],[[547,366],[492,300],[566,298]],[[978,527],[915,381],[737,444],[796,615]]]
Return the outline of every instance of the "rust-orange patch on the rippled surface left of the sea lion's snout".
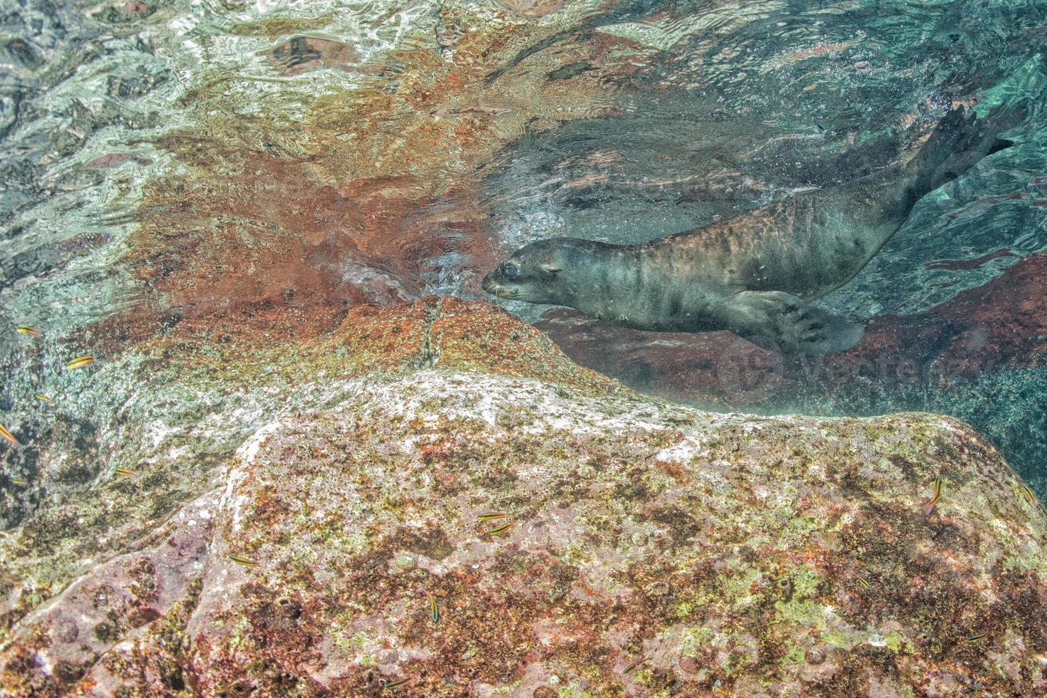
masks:
[[[199,122],[153,143],[180,171],[146,187],[121,261],[143,302],[97,334],[118,332],[126,345],[191,318],[250,335],[279,329],[285,313],[317,333],[334,330],[348,306],[474,289],[496,262],[482,194],[495,155],[525,129],[606,113],[594,106],[604,81],[634,71],[632,57],[646,50],[598,35],[542,55],[545,70],[492,80],[557,35],[556,23],[527,18],[562,4],[441,7],[437,39],[453,62],[417,47],[363,62],[349,44],[312,33],[330,17],[237,23],[238,36],[281,38],[263,55],[282,75],[335,69],[354,73],[352,87],[302,96],[293,117],[282,107],[245,115],[230,97],[235,81],[187,89],[180,106]],[[492,17],[497,31],[487,30]],[[583,61],[595,67],[547,82]],[[92,166],[119,156],[107,157]]]

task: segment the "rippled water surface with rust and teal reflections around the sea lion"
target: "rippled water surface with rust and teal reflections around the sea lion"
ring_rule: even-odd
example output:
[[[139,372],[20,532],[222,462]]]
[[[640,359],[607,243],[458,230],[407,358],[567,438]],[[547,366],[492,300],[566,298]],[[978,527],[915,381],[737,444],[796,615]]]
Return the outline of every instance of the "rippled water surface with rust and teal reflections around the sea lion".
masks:
[[[720,381],[673,397],[944,411],[1047,487],[1045,316],[1007,324],[1044,278],[1044,3],[8,1],[0,18],[0,321],[43,332],[0,334],[0,423],[54,440],[4,453],[8,478],[42,478],[29,499],[81,496],[127,448],[114,415],[237,413],[209,436],[220,453],[286,407],[179,392],[162,373],[130,380],[142,342],[173,328],[200,338],[194,352],[247,352],[331,330],[347,303],[485,297],[478,279],[520,244],[644,240],[830,185],[897,162],[953,102],[1026,105],[1017,145],[925,198],[822,305],[910,317],[893,321],[912,337],[992,321],[956,331],[973,373],[943,385],[823,371],[780,393]],[[1022,263],[1031,271],[1008,286]],[[963,295],[993,283],[995,295]],[[932,346],[877,351],[928,365],[953,351],[938,331]],[[582,363],[673,392],[650,377],[667,340],[636,340],[646,358],[630,362],[615,360],[624,335],[599,337],[560,339]],[[124,373],[60,370],[86,351]],[[721,350],[691,351],[666,381],[703,361],[715,377]],[[62,408],[41,412],[38,391]],[[35,505],[8,496],[5,521]]]

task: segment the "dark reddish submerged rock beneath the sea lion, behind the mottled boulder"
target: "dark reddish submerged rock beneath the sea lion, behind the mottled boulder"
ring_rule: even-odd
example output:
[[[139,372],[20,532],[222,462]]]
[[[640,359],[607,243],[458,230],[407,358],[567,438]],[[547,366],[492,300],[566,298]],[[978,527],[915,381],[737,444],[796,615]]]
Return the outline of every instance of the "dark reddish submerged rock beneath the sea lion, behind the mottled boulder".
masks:
[[[580,364],[671,400],[757,412],[952,414],[1044,495],[1045,277],[1047,255],[1029,256],[930,310],[876,317],[852,348],[818,356],[783,357],[728,332],[630,330],[569,309],[547,311],[537,327]]]

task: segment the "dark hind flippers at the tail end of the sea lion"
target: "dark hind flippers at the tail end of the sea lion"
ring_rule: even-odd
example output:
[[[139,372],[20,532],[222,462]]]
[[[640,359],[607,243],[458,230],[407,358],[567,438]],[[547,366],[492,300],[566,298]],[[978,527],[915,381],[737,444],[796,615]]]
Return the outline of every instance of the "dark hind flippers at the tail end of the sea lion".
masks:
[[[956,179],[986,155],[1013,145],[1000,133],[1017,126],[1024,112],[997,107],[978,118],[963,107],[951,109],[907,167],[910,201]]]

